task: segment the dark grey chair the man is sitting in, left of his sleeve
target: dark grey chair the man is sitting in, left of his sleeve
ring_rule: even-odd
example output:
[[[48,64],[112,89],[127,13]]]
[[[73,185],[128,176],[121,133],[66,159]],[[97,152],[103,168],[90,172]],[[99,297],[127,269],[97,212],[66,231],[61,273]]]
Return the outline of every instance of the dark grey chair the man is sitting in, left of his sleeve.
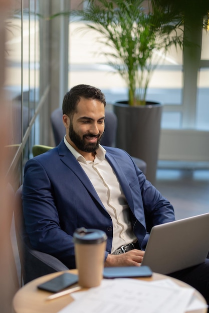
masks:
[[[16,192],[16,205],[14,209],[15,229],[18,242],[18,250],[21,261],[21,271],[24,284],[43,275],[60,270],[67,270],[56,257],[35,250],[30,244],[26,233],[22,207],[22,186]]]

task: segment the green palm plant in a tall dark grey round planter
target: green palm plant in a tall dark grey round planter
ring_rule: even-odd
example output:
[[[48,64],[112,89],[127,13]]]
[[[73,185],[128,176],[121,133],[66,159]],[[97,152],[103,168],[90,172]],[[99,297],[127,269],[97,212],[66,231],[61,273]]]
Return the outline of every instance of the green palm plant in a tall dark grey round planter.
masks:
[[[101,53],[127,86],[127,99],[113,105],[118,117],[116,145],[144,159],[147,178],[154,183],[162,105],[147,101],[147,88],[158,63],[155,52],[165,53],[172,44],[182,46],[181,20],[154,0],[87,2],[84,9],[71,13],[99,34],[98,40],[109,48]]]

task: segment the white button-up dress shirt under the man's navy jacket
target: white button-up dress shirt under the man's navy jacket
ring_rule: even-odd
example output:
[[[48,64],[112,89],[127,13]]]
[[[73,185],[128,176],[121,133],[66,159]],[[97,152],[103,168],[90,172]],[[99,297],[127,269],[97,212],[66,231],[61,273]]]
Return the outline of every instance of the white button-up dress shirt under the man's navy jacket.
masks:
[[[105,158],[106,150],[99,145],[94,161],[86,160],[64,137],[64,142],[91,180],[105,209],[112,218],[111,253],[121,245],[136,241],[129,218],[129,207],[114,170]]]

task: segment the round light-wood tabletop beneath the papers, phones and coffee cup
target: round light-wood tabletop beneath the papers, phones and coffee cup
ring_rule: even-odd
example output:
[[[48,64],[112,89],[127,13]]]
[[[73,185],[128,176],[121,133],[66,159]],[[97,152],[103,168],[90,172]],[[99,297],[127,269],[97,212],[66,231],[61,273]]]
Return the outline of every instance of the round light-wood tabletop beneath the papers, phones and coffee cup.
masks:
[[[77,269],[69,270],[69,272],[77,273]],[[70,294],[66,294],[64,296],[61,296],[53,300],[47,300],[47,297],[52,293],[48,291],[44,291],[44,290],[39,290],[37,288],[37,286],[40,283],[45,282],[51,278],[54,278],[60,275],[61,273],[62,272],[55,272],[52,274],[39,277],[37,279],[30,281],[29,283],[24,285],[22,288],[20,288],[18,292],[15,294],[14,299],[13,299],[13,312],[15,313],[57,313],[63,307],[71,303],[73,301],[73,297],[71,297]],[[136,278],[136,279],[152,281],[152,280],[159,280],[159,279],[165,279],[165,278],[172,279],[174,282],[176,282],[180,286],[190,287],[188,284],[178,279],[168,277],[162,274],[157,274],[157,273],[153,273],[151,277],[143,277],[143,278]],[[76,285],[77,284],[73,286],[76,286]],[[82,290],[85,290],[85,288],[83,288]],[[195,290],[194,295],[201,302],[206,304],[204,297],[197,290]],[[204,309],[192,311],[192,313],[194,312],[206,313],[207,309],[204,308]]]

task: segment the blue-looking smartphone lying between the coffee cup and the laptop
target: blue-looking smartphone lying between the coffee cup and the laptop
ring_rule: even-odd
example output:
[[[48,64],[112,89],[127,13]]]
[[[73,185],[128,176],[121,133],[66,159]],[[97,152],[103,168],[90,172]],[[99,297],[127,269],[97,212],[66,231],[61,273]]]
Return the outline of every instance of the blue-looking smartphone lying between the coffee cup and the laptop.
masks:
[[[117,277],[150,277],[152,270],[145,265],[142,266],[122,266],[122,267],[105,267],[103,270],[104,278]]]

